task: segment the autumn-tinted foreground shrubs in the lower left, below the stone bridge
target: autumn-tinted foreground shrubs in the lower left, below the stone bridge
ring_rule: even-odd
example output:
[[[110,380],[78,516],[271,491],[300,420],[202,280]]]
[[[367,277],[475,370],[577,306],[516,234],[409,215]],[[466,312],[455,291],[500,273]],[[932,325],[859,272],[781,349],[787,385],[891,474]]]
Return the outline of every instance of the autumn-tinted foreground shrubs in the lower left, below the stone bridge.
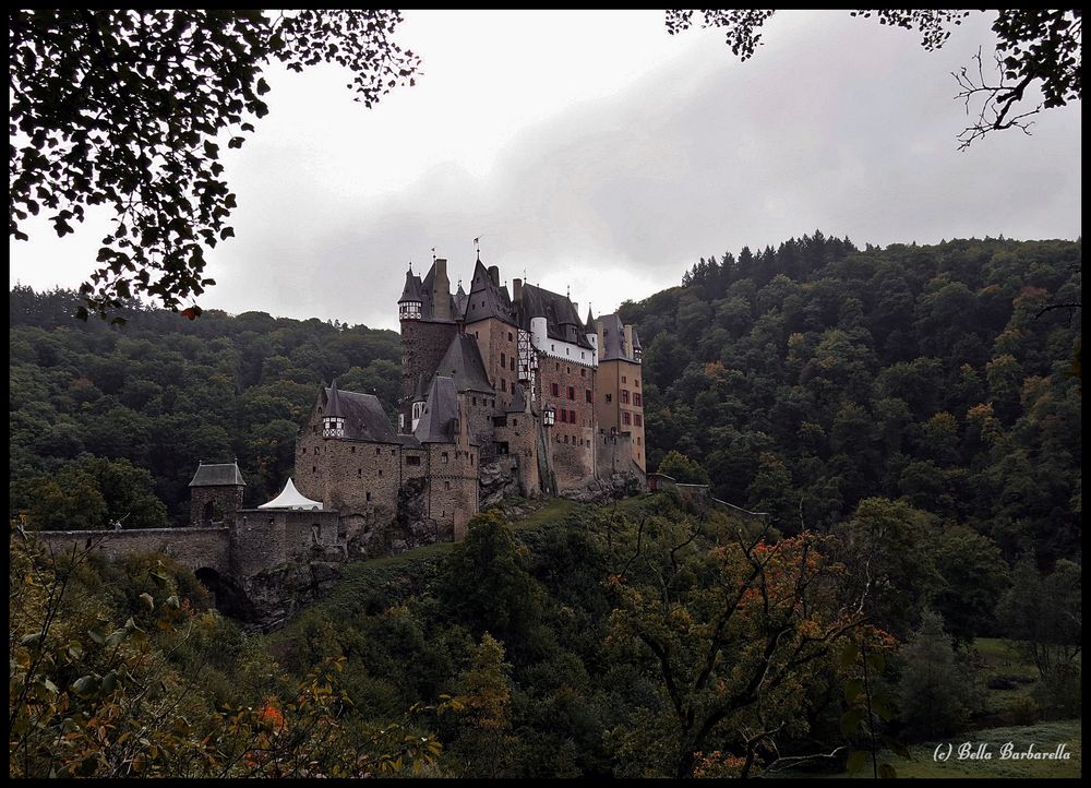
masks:
[[[14,530],[10,556],[13,777],[363,777],[436,763],[422,708],[351,717],[344,657],[290,681],[180,594],[194,581],[177,565],[50,558]]]

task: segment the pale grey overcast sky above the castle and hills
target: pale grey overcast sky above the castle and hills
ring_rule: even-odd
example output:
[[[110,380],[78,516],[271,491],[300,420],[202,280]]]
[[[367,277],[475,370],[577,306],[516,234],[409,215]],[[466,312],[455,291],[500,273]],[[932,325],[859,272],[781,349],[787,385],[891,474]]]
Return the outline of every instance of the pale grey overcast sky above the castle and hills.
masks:
[[[468,283],[475,237],[502,279],[601,314],[700,256],[815,229],[860,247],[1082,231],[1079,104],[957,151],[950,72],[994,48],[987,14],[926,52],[846,11],[782,11],[745,63],[659,11],[405,19],[423,76],[370,110],[334,67],[268,74],[269,115],[224,148],[236,238],[202,307],[396,329],[407,263],[425,272],[434,247]],[[107,227],[27,224],[10,283],[76,287]]]

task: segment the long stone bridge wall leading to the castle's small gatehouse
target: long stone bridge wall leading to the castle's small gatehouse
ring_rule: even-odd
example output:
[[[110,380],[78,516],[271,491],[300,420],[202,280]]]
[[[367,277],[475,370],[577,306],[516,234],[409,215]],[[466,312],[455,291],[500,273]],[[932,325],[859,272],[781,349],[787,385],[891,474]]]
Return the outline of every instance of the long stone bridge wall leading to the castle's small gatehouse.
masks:
[[[109,558],[134,552],[163,552],[194,572],[231,574],[231,534],[227,526],[134,528],[132,530],[41,530],[35,537],[55,552],[88,547]]]

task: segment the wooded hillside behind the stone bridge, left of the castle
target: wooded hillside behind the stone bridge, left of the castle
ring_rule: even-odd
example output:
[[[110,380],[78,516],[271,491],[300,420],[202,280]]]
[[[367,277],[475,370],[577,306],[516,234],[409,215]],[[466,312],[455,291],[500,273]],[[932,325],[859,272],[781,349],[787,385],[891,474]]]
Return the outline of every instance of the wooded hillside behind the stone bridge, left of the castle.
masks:
[[[264,503],[291,471],[321,383],[336,375],[391,413],[400,391],[392,331],[151,309],[124,312],[119,327],[74,320],[79,306],[72,292],[10,294],[11,513],[45,527],[103,527],[127,512],[125,527],[183,524],[202,459],[237,457],[247,502]]]

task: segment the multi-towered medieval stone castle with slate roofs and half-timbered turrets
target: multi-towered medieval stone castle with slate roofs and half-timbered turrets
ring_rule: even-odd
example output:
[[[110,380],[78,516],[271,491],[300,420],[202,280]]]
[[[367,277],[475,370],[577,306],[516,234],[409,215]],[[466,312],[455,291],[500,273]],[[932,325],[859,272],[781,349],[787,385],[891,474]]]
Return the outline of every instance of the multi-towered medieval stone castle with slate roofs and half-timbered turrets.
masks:
[[[636,331],[590,309],[580,320],[567,296],[512,285],[480,256],[468,294],[459,282],[452,295],[442,258],[423,278],[410,267],[398,299],[396,428],[377,397],[331,381],[297,433],[285,492],[245,510],[237,467],[202,466],[192,524],[211,524],[215,509],[274,541],[365,556],[460,540],[483,505],[508,493],[643,489]]]

